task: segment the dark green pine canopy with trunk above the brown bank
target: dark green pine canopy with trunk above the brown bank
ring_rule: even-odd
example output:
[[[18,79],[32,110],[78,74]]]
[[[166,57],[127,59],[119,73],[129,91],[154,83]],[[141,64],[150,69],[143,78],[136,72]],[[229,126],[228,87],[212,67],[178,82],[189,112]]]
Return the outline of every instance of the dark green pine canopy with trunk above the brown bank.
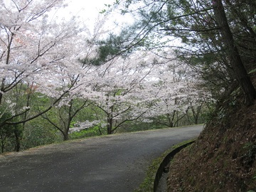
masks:
[[[248,74],[255,70],[255,1],[134,0],[117,6],[137,17],[134,39],[140,38],[130,46],[173,47],[207,80],[216,98],[217,92],[239,86],[245,104],[252,105],[256,94]]]

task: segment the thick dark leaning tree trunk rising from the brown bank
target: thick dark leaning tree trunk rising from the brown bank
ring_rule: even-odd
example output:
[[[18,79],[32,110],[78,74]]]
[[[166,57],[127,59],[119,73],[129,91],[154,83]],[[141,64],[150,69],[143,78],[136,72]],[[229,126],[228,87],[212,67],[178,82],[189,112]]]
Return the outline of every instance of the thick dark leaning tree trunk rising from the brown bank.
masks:
[[[222,0],[213,0],[213,11],[215,20],[220,27],[220,33],[223,36],[223,42],[227,48],[228,58],[230,59],[235,76],[245,97],[245,105],[252,105],[256,98],[255,87],[252,85],[247,71],[245,70],[245,65],[242,63],[238,48],[235,46],[235,41],[228,25],[228,19],[225,15]]]

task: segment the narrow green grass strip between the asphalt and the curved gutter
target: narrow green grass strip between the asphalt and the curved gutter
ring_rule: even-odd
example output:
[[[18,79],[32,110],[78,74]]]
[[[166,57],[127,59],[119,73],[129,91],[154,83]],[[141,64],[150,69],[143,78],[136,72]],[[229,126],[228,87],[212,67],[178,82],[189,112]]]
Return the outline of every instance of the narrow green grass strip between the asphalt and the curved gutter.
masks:
[[[161,162],[164,160],[164,158],[171,153],[174,149],[178,148],[179,146],[182,146],[183,144],[187,144],[189,142],[194,141],[195,139],[190,139],[181,143],[178,143],[174,146],[171,146],[170,149],[167,149],[164,151],[161,156],[157,157],[156,159],[153,159],[151,161],[150,166],[146,169],[146,177],[144,178],[144,181],[139,185],[137,189],[134,190],[134,192],[149,192],[154,191],[154,179],[156,176],[156,171],[159,169],[159,166]]]

